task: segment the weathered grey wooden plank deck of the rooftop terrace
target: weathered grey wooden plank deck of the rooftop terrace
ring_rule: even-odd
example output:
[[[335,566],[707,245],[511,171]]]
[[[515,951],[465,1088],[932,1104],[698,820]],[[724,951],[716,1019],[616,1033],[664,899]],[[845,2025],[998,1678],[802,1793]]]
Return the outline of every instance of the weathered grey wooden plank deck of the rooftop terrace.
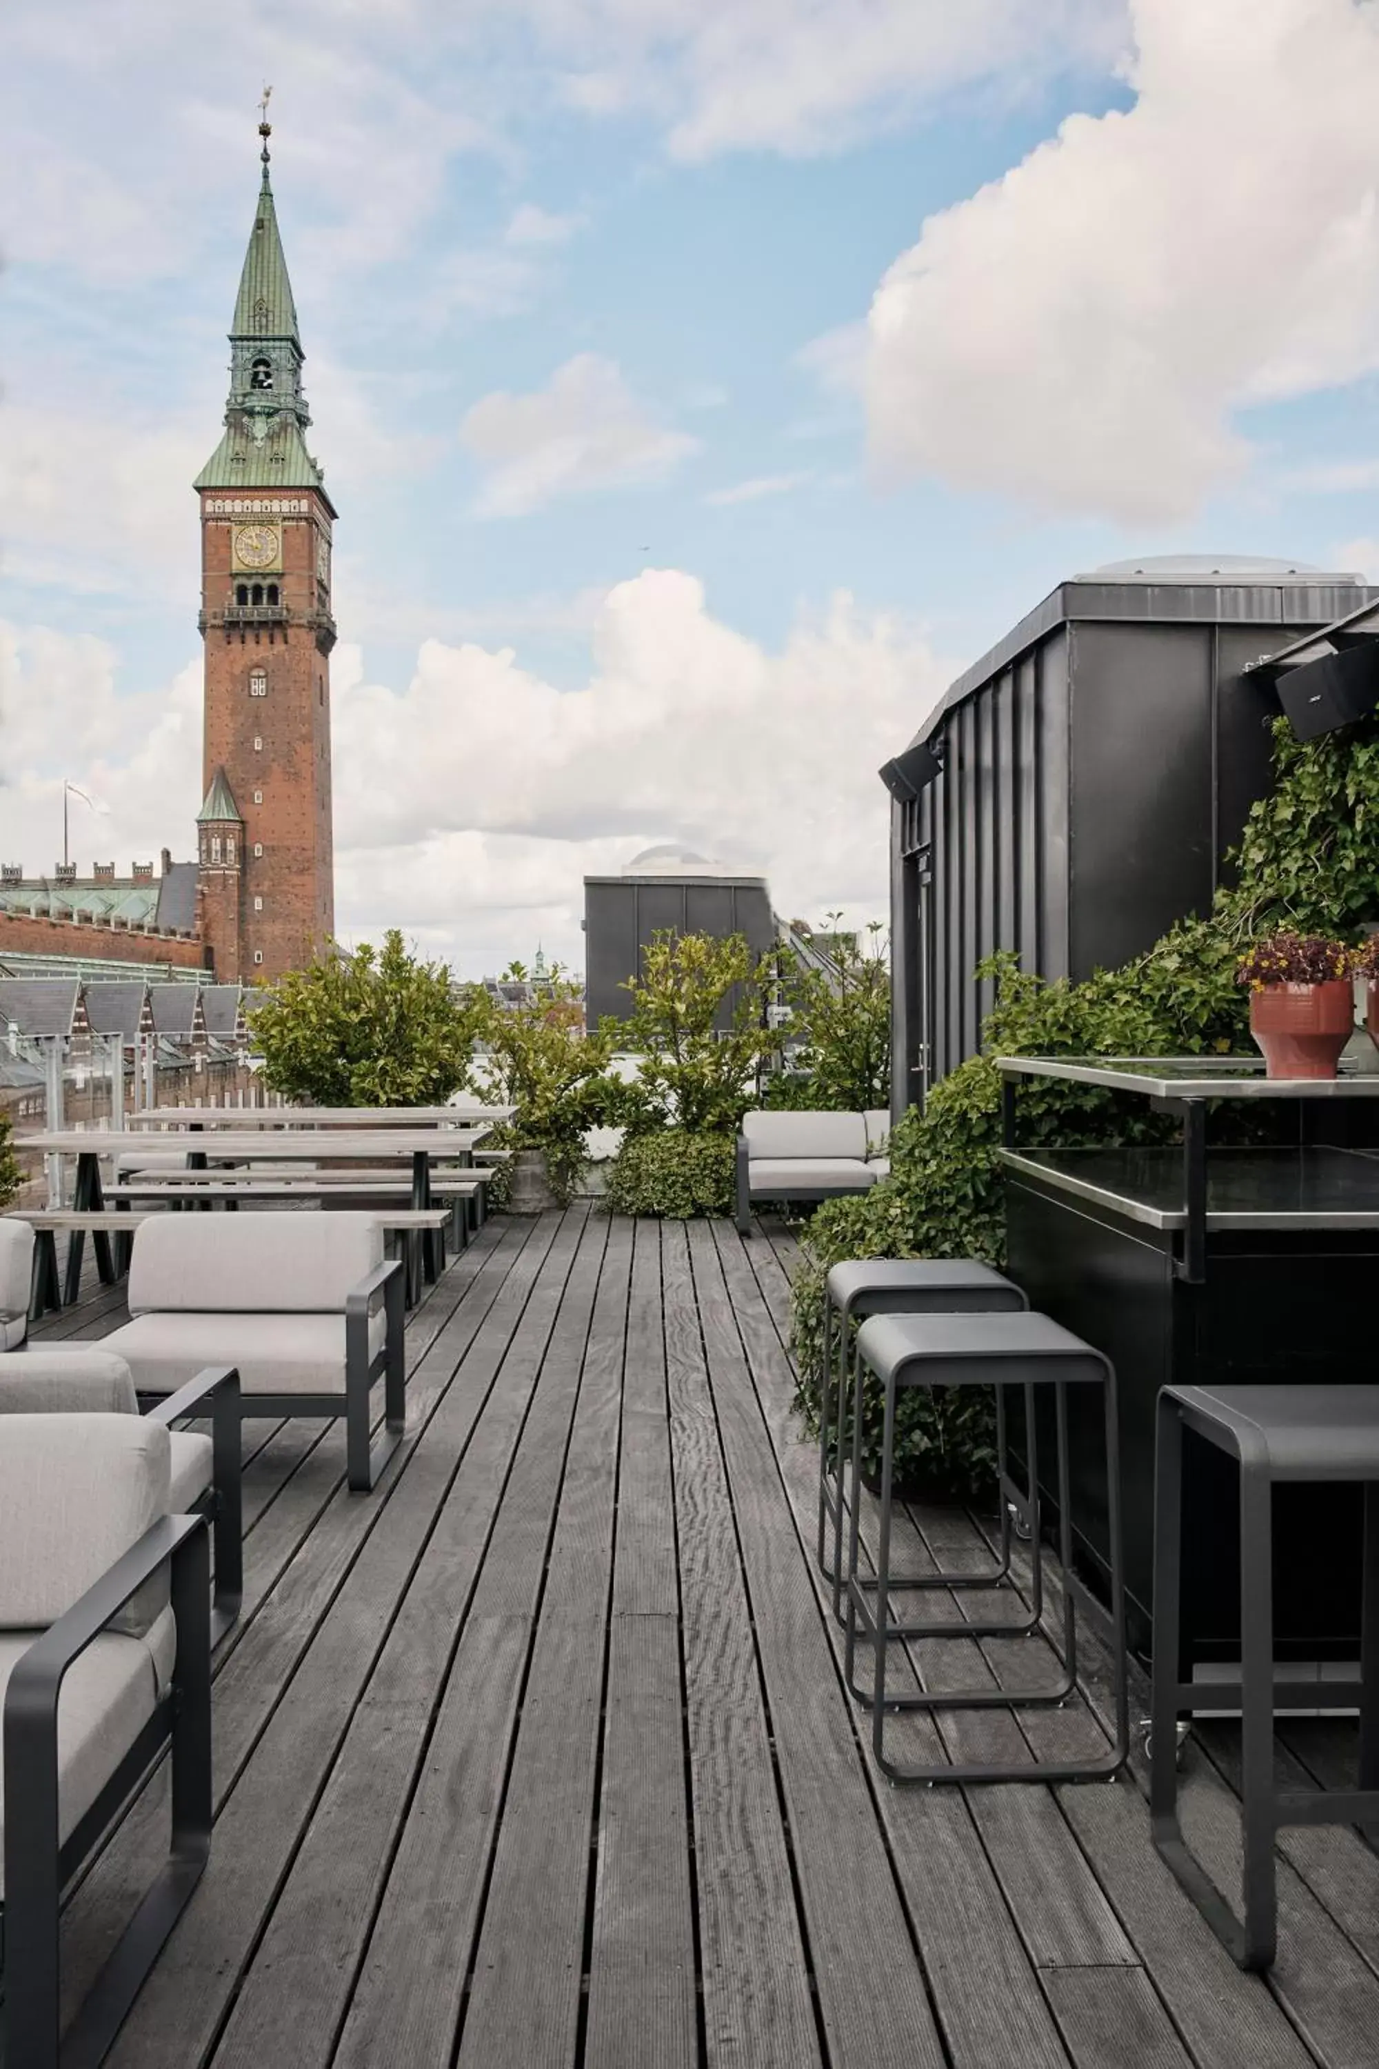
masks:
[[[409,1436],[372,1496],[341,1426],[256,1428],[213,1856],[116,2069],[1373,2069],[1356,1835],[1284,1835],[1265,1982],[1154,1856],[1143,1773],[879,1781],[813,1564],[788,1266],[728,1223],[496,1219],[409,1318]],[[43,1335],[116,1320],[97,1293]],[[918,1510],[899,1552],[986,1546]],[[1030,1680],[1040,1641],[914,1653],[934,1686]],[[1023,1730],[912,1736],[1021,1757],[1100,1723]],[[1280,1761],[1342,1779],[1352,1740],[1294,1726]],[[1226,1883],[1234,1757],[1224,1726],[1187,1752]],[[163,1829],[155,1777],[70,1899],[72,1992]]]

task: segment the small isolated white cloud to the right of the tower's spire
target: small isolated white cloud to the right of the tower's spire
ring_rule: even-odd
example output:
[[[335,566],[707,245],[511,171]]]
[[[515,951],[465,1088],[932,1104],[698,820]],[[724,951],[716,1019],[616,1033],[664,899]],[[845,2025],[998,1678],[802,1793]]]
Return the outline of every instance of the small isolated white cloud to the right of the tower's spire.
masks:
[[[494,517],[585,488],[662,480],[699,447],[660,424],[616,362],[595,352],[566,360],[533,395],[484,395],[459,434],[486,470],[480,511]]]

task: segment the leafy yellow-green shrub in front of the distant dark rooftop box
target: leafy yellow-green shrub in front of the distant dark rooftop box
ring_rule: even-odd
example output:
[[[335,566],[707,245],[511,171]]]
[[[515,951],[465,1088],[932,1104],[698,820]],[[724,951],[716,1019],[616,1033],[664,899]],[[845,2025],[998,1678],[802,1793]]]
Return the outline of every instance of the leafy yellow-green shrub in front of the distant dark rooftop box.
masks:
[[[744,935],[657,933],[641,958],[626,1020],[606,1020],[639,1074],[618,1086],[610,1119],[631,1136],[653,1128],[736,1136],[753,1105],[769,1037],[771,958],[757,962]]]

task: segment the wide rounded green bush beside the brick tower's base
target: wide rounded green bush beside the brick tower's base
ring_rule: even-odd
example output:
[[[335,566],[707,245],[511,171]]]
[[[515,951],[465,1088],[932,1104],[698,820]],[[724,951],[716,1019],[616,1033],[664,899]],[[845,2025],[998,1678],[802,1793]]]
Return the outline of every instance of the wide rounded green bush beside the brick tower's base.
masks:
[[[442,962],[397,929],[382,950],[329,950],[250,1003],[250,1039],[275,1092],[310,1107],[438,1107],[469,1078],[476,1010]]]

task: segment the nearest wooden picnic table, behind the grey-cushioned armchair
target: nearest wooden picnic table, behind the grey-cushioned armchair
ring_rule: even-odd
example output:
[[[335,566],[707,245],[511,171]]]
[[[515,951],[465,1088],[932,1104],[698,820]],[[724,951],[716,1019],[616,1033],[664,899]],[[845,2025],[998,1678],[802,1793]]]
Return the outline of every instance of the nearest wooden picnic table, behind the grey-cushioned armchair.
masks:
[[[192,1109],[196,1111],[196,1109]],[[279,1128],[279,1130],[217,1130],[213,1140],[205,1144],[192,1144],[188,1138],[180,1138],[190,1157],[190,1169],[205,1169],[207,1155],[225,1159],[252,1159],[254,1163],[273,1163],[285,1159],[289,1163],[300,1163],[310,1159],[314,1163],[411,1163],[411,1204],[416,1208],[430,1206],[430,1167],[432,1163],[459,1159],[465,1163],[476,1148],[490,1134],[488,1128],[387,1128],[387,1130],[310,1130],[310,1128]],[[72,1206],[83,1210],[99,1212],[105,1204],[101,1190],[101,1157],[128,1155],[130,1136],[124,1128],[58,1128],[45,1130],[35,1136],[25,1136],[23,1146],[27,1150],[37,1150],[43,1157],[74,1157],[76,1159],[76,1183],[72,1188]],[[114,1285],[116,1270],[110,1252],[110,1235],[103,1231],[93,1233],[95,1262],[103,1285]],[[66,1297],[76,1299],[76,1289],[81,1287],[81,1260],[85,1252],[87,1237],[81,1231],[72,1233],[66,1254]],[[428,1268],[434,1264],[436,1246],[430,1233],[426,1235],[426,1260]]]

